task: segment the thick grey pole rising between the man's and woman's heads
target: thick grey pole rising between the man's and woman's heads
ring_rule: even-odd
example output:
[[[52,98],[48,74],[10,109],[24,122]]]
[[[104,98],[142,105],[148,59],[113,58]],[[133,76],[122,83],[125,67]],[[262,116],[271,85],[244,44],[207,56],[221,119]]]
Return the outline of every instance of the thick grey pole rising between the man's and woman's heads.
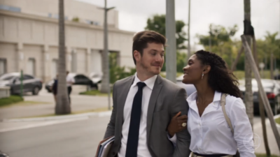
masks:
[[[167,37],[166,47],[166,72],[167,79],[176,82],[176,23],[175,23],[175,1],[166,0],[165,34]]]

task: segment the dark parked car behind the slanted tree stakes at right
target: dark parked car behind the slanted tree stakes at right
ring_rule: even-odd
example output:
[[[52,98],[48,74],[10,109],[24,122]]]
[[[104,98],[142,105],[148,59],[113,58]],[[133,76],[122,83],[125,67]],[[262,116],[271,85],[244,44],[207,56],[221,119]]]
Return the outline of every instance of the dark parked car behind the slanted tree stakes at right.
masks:
[[[265,90],[269,104],[272,108],[274,114],[279,114],[280,112],[280,81],[262,79],[262,87]],[[239,89],[245,96],[245,80],[239,80]],[[259,101],[258,101],[258,83],[255,79],[252,79],[252,91],[253,91],[253,107],[254,112],[259,113]]]

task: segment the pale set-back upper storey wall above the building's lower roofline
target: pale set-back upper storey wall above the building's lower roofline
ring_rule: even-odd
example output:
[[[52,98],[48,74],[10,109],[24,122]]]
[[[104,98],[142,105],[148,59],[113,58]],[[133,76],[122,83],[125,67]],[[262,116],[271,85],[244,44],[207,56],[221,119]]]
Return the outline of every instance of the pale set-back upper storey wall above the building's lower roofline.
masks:
[[[1,0],[0,5],[13,6],[21,13],[40,15],[43,17],[58,18],[57,0]],[[103,6],[100,6],[103,7]],[[103,26],[104,10],[99,6],[74,0],[64,0],[64,15],[66,20],[78,17],[80,22],[94,22],[94,25]],[[108,13],[110,27],[118,28],[118,11],[110,10]]]

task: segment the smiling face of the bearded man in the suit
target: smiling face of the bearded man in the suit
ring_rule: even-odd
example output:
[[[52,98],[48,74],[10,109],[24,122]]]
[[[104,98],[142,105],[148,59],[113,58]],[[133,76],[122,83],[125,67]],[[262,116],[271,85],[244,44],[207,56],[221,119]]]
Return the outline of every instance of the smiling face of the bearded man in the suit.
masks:
[[[161,43],[148,43],[140,55],[139,66],[143,68],[148,75],[158,75],[165,62],[165,47]]]

